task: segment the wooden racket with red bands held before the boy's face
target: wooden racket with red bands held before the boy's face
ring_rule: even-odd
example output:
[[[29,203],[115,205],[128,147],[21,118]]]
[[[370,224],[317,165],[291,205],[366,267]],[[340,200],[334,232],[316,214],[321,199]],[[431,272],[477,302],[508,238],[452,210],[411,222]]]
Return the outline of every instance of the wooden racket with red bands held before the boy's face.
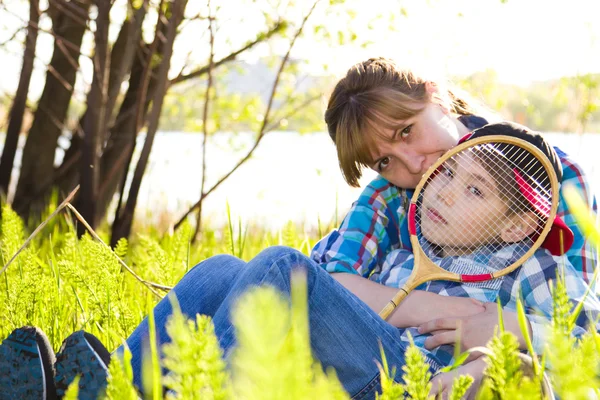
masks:
[[[507,125],[496,125],[501,126],[500,132],[506,130]],[[544,244],[553,226],[559,231],[566,228],[556,218],[557,174],[562,179],[562,169],[556,154],[548,154],[554,150],[539,135],[537,142],[525,140],[529,131],[499,135],[485,133],[485,129],[474,131],[471,138],[444,154],[417,185],[407,216],[413,270],[379,313],[383,319],[424,282],[483,282],[504,276]],[[478,131],[484,133],[478,136]],[[459,274],[441,267],[448,265],[442,263],[448,257],[469,260],[507,246],[518,246],[517,256],[521,256],[501,269],[491,266],[485,273]]]

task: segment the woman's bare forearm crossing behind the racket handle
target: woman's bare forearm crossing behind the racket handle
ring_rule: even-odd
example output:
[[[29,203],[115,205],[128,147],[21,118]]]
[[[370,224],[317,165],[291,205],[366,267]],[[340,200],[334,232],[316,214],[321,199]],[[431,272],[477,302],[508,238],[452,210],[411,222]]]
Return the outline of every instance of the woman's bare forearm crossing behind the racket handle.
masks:
[[[376,313],[379,313],[398,291],[396,288],[381,285],[355,274],[335,273],[331,276]],[[440,296],[414,290],[396,307],[388,322],[396,327],[406,328],[418,326],[431,319],[444,316],[470,316],[483,310],[483,303],[475,299]]]

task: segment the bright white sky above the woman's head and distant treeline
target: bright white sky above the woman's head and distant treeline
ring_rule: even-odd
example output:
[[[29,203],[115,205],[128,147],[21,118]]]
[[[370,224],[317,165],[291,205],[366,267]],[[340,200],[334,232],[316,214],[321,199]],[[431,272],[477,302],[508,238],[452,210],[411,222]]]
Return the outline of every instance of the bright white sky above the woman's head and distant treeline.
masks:
[[[365,32],[366,49],[323,51],[336,68],[372,55],[434,74],[466,75],[494,69],[502,82],[527,85],[535,80],[600,72],[598,0],[421,0],[359,1],[361,13],[374,14],[400,4],[406,16],[396,31]],[[359,24],[357,24],[359,25]],[[309,54],[313,49],[307,49]]]

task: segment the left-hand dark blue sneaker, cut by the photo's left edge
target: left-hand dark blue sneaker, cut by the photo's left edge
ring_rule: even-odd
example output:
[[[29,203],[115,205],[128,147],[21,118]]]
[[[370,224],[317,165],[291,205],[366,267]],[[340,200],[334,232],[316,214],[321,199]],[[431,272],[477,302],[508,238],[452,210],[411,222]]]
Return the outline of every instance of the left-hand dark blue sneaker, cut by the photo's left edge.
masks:
[[[0,345],[0,399],[55,400],[54,352],[41,329],[15,329]]]

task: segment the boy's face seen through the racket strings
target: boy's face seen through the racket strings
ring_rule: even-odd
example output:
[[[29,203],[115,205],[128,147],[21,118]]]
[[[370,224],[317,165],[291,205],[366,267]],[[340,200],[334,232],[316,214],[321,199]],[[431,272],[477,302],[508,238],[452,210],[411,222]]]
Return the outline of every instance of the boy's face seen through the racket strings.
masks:
[[[499,241],[507,206],[492,176],[470,152],[446,161],[423,192],[421,232],[446,255]]]

